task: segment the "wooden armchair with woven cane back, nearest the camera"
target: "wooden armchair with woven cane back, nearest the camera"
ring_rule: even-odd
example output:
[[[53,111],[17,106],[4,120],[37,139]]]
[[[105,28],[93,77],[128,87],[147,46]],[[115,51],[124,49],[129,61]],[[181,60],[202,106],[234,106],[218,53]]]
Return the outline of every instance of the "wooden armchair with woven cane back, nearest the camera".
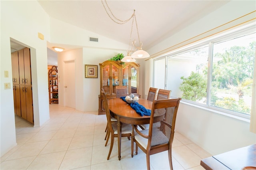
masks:
[[[136,125],[132,125],[132,157],[135,142],[136,154],[138,154],[138,147],[146,153],[148,170],[150,170],[150,155],[165,150],[168,150],[170,169],[173,169],[172,141],[180,100],[178,98],[153,101],[149,129],[138,130]]]

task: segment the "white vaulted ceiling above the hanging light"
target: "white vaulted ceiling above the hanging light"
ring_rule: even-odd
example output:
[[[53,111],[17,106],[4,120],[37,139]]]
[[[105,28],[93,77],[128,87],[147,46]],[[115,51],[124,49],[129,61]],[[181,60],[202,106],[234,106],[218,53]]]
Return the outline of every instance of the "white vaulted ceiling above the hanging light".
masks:
[[[126,24],[116,24],[107,15],[101,0],[38,2],[52,18],[129,45],[132,20]],[[107,0],[112,13],[120,20],[127,20],[136,10],[138,31],[144,50],[227,2],[229,0]],[[133,33],[132,40],[137,39],[135,25]]]

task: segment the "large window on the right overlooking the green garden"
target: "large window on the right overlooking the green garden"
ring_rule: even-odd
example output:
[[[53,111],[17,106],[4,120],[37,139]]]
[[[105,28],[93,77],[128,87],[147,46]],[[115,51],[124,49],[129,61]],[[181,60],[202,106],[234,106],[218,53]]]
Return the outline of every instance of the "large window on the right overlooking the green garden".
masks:
[[[183,101],[250,115],[255,47],[253,27],[172,52],[154,60],[154,87],[166,87]],[[159,71],[166,76],[156,76]]]

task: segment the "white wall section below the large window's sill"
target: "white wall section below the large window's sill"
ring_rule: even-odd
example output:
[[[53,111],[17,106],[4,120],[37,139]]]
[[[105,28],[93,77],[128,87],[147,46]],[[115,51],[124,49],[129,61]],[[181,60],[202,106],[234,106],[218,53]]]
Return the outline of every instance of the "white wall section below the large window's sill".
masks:
[[[212,155],[256,143],[256,135],[250,132],[248,121],[182,102],[175,128]]]

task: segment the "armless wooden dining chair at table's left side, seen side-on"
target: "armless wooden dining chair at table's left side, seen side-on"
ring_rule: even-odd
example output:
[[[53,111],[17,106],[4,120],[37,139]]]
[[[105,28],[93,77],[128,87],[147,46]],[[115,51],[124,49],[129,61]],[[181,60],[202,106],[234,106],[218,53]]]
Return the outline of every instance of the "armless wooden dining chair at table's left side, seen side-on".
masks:
[[[107,137],[107,141],[106,141],[106,144],[108,143],[108,139],[111,138],[111,141],[110,141],[110,148],[109,148],[109,152],[108,152],[108,157],[107,157],[107,160],[109,160],[109,157],[110,157],[110,154],[112,152],[112,148],[113,148],[113,145],[114,145],[114,137],[117,137],[117,122],[112,122],[111,121],[111,115],[110,115],[110,110],[109,110],[109,107],[108,107],[108,102],[107,101],[107,97],[106,97],[106,94],[105,93],[102,93],[103,95],[103,99],[104,99],[104,104],[105,104],[105,108],[106,108],[106,117],[107,117],[107,120],[108,120],[108,137]],[[132,126],[129,125],[129,124],[126,124],[126,123],[122,123],[122,134],[121,136],[122,137],[128,137],[128,139],[130,140],[130,136],[132,135]],[[105,146],[106,146],[105,144]]]

